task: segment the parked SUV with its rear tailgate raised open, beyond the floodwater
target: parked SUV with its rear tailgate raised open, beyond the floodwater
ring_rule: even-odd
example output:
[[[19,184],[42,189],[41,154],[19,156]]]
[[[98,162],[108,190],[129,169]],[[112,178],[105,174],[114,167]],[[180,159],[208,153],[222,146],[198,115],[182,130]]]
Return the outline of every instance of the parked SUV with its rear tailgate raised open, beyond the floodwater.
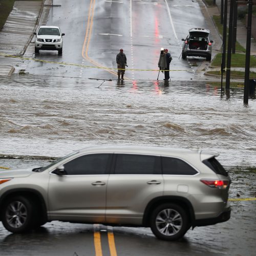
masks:
[[[209,39],[210,31],[208,29],[194,28],[189,29],[189,34],[184,39],[182,46],[182,58],[186,59],[187,56],[204,57],[206,60],[211,60],[211,44],[212,40]]]

